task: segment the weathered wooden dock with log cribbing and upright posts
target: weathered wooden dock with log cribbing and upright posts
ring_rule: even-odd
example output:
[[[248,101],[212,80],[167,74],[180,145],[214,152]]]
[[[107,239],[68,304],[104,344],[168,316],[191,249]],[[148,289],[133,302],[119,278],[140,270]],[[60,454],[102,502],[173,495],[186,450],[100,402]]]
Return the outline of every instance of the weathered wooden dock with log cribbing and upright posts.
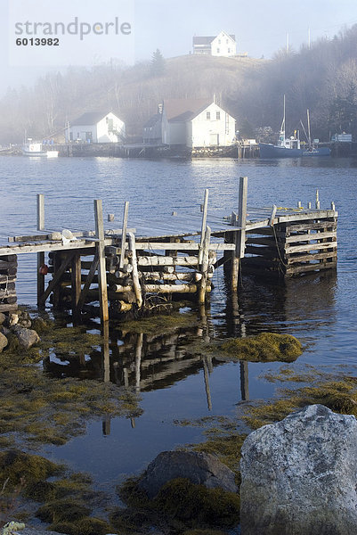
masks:
[[[175,295],[191,294],[203,305],[215,270],[229,268],[232,292],[239,270],[260,275],[301,276],[336,268],[337,211],[314,208],[247,206],[247,177],[239,179],[237,212],[208,210],[208,190],[196,213],[173,212],[159,224],[104,229],[101,200],[94,201],[95,229],[45,229],[45,198],[37,195],[37,231],[11,236],[0,245],[0,311],[17,308],[17,257],[37,253],[37,304],[51,297],[80,320],[89,303],[100,306],[101,321],[115,314],[158,307]],[[109,214],[111,223],[113,216]]]

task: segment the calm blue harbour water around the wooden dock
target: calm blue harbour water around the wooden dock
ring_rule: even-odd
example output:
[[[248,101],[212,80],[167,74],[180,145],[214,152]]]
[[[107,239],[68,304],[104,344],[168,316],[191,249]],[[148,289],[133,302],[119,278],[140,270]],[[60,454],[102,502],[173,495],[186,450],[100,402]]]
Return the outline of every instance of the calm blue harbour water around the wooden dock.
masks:
[[[157,214],[197,210],[205,188],[209,188],[210,207],[230,213],[237,207],[239,176],[248,177],[251,206],[275,203],[289,207],[298,201],[306,206],[314,202],[319,188],[321,208],[329,208],[334,201],[339,213],[337,275],[325,273],[286,284],[263,284],[244,277],[237,326],[232,325],[223,278],[217,272],[204,334],[224,337],[266,330],[291,333],[306,345],[304,354],[291,366],[351,367],[357,364],[356,168],[357,161],[333,159],[174,162],[2,157],[0,243],[7,235],[30,234],[36,228],[37,193],[45,193],[46,228],[61,230],[93,228],[93,199],[102,199],[104,214],[116,215],[117,227],[121,226],[123,204],[129,201],[129,225],[139,226],[143,219],[154,221]],[[35,259],[19,261],[19,300],[35,305]],[[242,399],[239,364],[208,366],[208,403],[203,363],[183,358],[180,369],[175,369],[166,358],[170,351],[180,354],[182,345],[196,336],[197,332],[190,330],[179,333],[175,340],[163,338],[151,345],[150,340],[144,340],[142,416],[132,422],[111,420],[106,436],[101,422],[90,423],[85,436],[47,449],[48,454],[77,470],[92,472],[100,483],[118,482],[126,474],[142,471],[159,451],[201,440],[198,429],[175,426],[174,419],[234,414]],[[137,343],[133,336],[117,341],[117,348],[119,344],[127,350],[116,354],[111,348],[111,361],[133,361]],[[145,366],[145,359],[149,362],[150,358],[161,360],[155,366]],[[248,365],[250,399],[273,395],[276,385],[267,383],[261,375],[279,367]],[[134,368],[133,363],[128,367],[130,384],[137,378]],[[110,380],[121,381],[115,367],[110,369]]]

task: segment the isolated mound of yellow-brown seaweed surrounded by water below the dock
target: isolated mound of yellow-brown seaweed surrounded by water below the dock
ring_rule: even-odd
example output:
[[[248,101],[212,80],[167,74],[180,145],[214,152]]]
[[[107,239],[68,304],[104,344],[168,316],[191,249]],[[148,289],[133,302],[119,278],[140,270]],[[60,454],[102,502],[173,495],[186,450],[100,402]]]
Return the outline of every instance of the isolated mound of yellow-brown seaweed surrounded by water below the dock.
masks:
[[[232,338],[221,345],[218,358],[250,362],[293,362],[303,352],[301,343],[290,334],[260,333],[247,338]]]

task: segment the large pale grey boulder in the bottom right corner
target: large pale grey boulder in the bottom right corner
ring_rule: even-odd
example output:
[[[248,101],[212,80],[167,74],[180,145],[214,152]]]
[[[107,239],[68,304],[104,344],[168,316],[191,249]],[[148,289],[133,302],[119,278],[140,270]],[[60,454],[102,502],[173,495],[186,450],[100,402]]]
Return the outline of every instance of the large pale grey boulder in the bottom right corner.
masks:
[[[355,535],[357,421],[304,407],[241,449],[242,535]]]

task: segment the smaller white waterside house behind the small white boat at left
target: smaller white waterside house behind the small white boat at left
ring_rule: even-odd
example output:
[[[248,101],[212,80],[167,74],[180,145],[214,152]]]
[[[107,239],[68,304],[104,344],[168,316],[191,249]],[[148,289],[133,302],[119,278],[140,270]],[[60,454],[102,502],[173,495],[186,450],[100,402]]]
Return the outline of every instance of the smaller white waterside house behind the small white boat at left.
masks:
[[[111,111],[87,112],[66,128],[66,142],[118,143],[125,137],[126,125]]]

